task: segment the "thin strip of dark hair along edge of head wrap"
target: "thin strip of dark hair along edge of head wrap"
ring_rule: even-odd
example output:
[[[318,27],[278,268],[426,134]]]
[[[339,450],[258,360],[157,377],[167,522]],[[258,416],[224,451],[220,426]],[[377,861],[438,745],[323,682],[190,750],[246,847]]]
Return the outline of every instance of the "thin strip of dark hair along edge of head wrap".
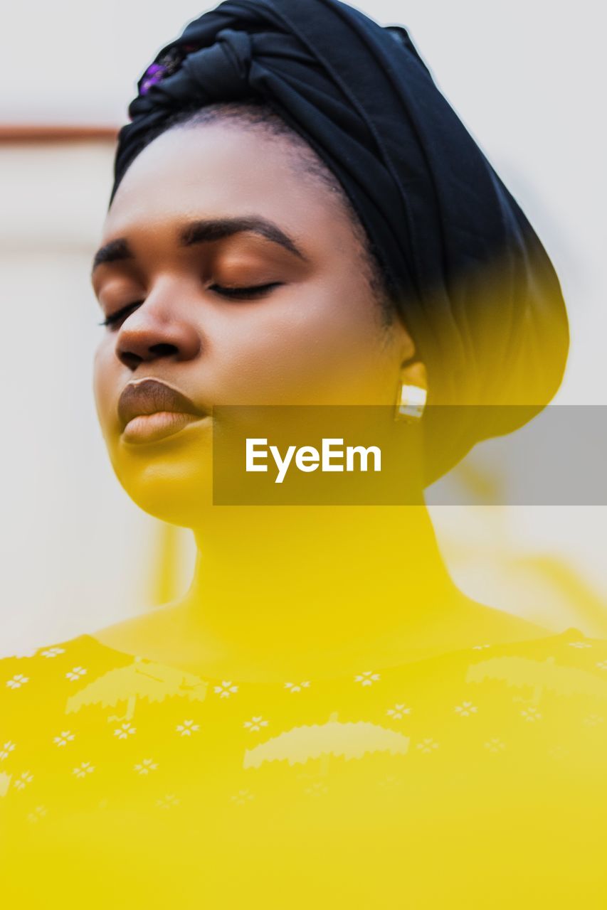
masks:
[[[365,278],[369,288],[377,298],[386,326],[391,325],[396,315],[396,307],[386,286],[386,278],[379,264],[376,251],[363,224],[355,212],[349,197],[334,173],[324,164],[314,148],[300,136],[273,108],[258,98],[244,98],[239,101],[216,102],[204,107],[190,106],[182,108],[161,123],[149,128],[141,137],[136,153],[129,160],[128,167],[133,163],[141,151],[158,136],[170,129],[190,128],[217,122],[233,122],[244,128],[262,129],[270,136],[285,138],[291,151],[296,157],[299,171],[302,175],[309,175],[318,184],[333,195],[338,205],[345,209],[345,213],[352,225],[355,239],[361,249],[361,260]],[[122,177],[128,170],[122,173]]]

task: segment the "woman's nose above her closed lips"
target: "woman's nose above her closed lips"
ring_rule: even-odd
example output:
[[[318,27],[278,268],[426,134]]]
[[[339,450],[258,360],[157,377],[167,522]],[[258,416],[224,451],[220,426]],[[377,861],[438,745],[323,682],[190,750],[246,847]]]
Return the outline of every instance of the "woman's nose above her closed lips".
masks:
[[[130,313],[116,338],[116,356],[131,370],[161,357],[190,360],[200,350],[201,334],[183,307],[171,306],[159,295],[149,296]]]

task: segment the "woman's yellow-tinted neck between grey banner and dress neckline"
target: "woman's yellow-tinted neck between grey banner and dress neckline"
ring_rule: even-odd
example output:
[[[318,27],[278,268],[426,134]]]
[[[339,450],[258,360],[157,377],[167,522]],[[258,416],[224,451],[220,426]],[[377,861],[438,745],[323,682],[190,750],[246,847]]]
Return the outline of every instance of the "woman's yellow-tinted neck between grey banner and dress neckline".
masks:
[[[453,603],[423,506],[222,507],[196,540],[181,634],[218,667],[347,662]]]

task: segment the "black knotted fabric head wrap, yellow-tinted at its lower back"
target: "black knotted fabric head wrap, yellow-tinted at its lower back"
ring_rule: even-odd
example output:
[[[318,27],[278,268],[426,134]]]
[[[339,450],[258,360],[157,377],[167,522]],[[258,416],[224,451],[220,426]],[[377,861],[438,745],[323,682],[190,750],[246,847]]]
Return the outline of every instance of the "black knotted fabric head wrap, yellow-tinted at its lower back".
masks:
[[[452,409],[448,430],[441,417],[428,479],[550,400],[569,341],[558,278],[404,28],[337,0],[227,0],[160,52],[139,92],[114,192],[149,130],[252,96],[333,171],[427,364],[428,403],[474,406]]]

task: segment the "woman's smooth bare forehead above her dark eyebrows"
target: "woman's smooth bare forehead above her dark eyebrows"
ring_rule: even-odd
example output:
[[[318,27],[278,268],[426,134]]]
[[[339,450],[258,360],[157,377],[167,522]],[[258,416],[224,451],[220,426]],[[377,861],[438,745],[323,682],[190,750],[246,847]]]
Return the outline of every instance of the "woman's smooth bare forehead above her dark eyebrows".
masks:
[[[229,123],[173,128],[133,161],[104,237],[170,218],[262,215],[294,233],[351,230],[345,208],[284,136]]]

